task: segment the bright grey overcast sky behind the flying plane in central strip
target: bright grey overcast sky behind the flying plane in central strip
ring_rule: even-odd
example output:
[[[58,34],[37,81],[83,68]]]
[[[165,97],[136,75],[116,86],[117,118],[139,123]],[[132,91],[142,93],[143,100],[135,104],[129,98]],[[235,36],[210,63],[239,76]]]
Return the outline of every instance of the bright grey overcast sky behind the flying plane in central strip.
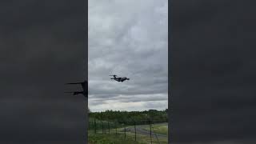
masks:
[[[90,110],[168,108],[168,1],[88,4]],[[115,82],[110,74],[130,81]]]

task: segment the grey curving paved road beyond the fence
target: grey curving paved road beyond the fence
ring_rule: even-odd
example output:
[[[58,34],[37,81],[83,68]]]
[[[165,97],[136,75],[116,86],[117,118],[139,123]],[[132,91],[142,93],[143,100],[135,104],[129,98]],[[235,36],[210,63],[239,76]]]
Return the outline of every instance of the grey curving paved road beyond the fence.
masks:
[[[146,125],[148,126],[148,125]],[[141,125],[141,126],[136,126],[136,132],[137,134],[143,134],[143,135],[148,135],[150,136],[150,130],[145,130],[144,129],[145,126]],[[124,131],[124,129],[122,129],[122,131]],[[126,132],[132,132],[132,133],[135,133],[135,130],[134,130],[134,127],[126,127]],[[158,138],[167,138],[168,136],[165,135],[165,134],[157,134],[157,133],[154,133],[152,131],[152,138],[156,138],[156,136]]]

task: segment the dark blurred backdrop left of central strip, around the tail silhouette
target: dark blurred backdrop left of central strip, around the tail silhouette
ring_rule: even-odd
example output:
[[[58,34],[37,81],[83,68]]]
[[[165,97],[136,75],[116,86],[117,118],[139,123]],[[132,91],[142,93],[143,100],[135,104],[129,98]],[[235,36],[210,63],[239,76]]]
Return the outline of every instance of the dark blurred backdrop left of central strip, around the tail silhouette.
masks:
[[[6,1],[0,17],[0,143],[85,142],[85,2]],[[66,141],[66,142],[63,142]]]

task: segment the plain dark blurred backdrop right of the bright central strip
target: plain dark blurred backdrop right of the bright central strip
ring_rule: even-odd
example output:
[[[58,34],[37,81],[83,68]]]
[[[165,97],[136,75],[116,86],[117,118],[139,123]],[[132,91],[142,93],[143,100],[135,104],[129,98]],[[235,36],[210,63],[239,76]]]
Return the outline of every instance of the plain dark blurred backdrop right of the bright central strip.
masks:
[[[252,6],[227,0],[172,3],[174,142],[255,142]]]

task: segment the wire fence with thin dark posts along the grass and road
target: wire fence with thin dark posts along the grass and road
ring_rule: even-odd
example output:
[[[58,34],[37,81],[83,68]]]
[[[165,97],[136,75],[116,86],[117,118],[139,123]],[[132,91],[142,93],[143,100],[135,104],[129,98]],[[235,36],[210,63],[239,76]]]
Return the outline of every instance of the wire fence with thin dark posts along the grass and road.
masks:
[[[165,133],[158,130],[159,126],[168,126],[167,122],[167,119],[104,121],[90,118],[89,130],[94,134],[122,135],[125,139],[133,138],[136,142],[167,143],[168,131]]]

